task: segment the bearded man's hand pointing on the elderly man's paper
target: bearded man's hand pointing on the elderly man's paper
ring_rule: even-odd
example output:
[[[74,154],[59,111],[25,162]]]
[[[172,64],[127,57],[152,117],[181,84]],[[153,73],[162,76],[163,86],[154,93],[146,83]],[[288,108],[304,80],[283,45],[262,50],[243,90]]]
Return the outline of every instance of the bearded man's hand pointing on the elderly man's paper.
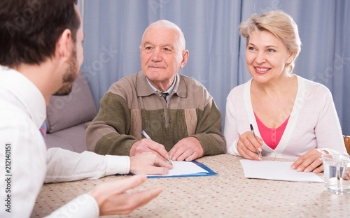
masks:
[[[173,168],[172,164],[151,152],[130,157],[130,172],[134,174],[168,174],[168,168]]]

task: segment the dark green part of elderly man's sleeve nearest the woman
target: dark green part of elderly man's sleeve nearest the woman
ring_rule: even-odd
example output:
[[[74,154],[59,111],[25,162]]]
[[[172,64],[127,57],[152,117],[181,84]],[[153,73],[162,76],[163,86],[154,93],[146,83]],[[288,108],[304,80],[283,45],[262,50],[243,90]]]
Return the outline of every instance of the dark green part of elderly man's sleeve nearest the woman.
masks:
[[[221,112],[214,100],[205,106],[204,111],[198,112],[197,130],[193,137],[200,140],[203,147],[203,156],[225,154],[226,140],[221,133]]]

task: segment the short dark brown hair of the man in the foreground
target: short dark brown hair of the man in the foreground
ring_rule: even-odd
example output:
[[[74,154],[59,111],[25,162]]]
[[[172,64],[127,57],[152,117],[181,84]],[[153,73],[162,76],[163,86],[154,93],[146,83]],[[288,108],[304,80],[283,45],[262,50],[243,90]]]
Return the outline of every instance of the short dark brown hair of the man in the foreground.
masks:
[[[64,29],[76,41],[77,0],[1,0],[0,65],[40,64],[55,55]]]

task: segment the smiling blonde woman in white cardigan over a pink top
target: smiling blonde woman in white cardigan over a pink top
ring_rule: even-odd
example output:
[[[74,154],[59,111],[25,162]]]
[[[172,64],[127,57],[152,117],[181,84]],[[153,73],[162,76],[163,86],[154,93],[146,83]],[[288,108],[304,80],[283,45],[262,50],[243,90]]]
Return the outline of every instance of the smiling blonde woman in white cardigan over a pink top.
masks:
[[[253,14],[239,28],[253,78],[228,95],[228,153],[261,160],[260,151],[297,159],[290,166],[297,171],[322,172],[322,154],[346,150],[328,88],[292,73],[301,48],[293,18],[280,10]]]

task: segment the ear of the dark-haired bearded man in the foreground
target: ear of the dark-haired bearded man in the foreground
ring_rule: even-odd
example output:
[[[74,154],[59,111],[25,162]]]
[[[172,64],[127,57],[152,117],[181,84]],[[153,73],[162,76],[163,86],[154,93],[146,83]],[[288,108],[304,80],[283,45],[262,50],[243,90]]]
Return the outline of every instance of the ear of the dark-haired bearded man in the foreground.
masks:
[[[61,36],[59,36],[58,41],[56,43],[56,55],[59,58],[63,58],[64,60],[69,59],[71,56],[71,30],[65,29]]]

